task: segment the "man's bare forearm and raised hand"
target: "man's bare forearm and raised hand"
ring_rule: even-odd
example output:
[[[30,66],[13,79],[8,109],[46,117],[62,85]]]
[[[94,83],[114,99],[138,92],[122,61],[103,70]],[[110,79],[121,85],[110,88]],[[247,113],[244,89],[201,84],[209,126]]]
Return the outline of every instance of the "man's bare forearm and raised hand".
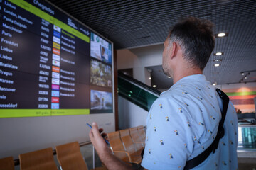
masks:
[[[92,130],[90,131],[90,140],[92,142],[92,145],[95,147],[97,154],[100,157],[100,160],[102,161],[105,166],[107,166],[107,169],[112,170],[132,170],[132,167],[128,166],[124,162],[122,162],[120,159],[115,157],[110,148],[107,147],[107,144],[103,137],[100,135],[100,132],[98,130],[98,126],[96,123],[92,123]]]

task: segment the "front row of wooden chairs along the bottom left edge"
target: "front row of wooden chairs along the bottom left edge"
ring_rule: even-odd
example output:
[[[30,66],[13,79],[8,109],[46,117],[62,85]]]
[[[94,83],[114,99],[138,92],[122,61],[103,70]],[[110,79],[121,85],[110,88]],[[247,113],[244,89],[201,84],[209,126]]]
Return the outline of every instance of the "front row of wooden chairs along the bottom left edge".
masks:
[[[87,170],[87,164],[80,152],[78,142],[71,142],[55,147],[57,159],[62,170]],[[53,149],[46,148],[34,152],[19,155],[21,170],[58,170],[53,158]],[[13,157],[0,159],[0,170],[14,170]],[[96,168],[95,170],[105,170],[105,167]]]

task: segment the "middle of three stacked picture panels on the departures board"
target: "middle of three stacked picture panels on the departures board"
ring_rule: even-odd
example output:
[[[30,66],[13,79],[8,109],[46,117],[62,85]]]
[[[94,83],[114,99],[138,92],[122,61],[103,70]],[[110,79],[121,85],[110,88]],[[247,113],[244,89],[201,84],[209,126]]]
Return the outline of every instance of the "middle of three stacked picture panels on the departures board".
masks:
[[[95,86],[112,87],[112,68],[110,65],[91,60],[90,83]]]

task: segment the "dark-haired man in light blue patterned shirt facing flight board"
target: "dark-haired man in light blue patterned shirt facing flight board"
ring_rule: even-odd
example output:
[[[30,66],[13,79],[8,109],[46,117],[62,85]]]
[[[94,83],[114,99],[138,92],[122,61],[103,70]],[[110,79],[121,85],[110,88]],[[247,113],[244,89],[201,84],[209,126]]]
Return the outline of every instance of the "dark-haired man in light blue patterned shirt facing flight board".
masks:
[[[215,45],[213,24],[187,18],[171,29],[164,42],[163,70],[174,85],[153,103],[147,118],[145,169],[183,169],[186,161],[207,149],[218,132],[223,101],[203,76]],[[109,169],[129,169],[107,149],[95,123],[90,139]],[[229,103],[225,135],[215,153],[194,169],[238,169],[238,127]],[[150,151],[150,152],[149,152]]]

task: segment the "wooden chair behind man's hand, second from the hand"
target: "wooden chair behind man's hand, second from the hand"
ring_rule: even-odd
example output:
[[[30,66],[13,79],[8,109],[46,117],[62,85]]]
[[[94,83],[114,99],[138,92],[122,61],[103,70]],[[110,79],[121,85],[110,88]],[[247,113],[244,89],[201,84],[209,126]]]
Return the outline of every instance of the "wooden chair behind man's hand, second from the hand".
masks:
[[[124,148],[132,156],[141,156],[143,145],[142,143],[134,143],[129,134],[129,129],[120,130],[120,137],[124,143]]]

